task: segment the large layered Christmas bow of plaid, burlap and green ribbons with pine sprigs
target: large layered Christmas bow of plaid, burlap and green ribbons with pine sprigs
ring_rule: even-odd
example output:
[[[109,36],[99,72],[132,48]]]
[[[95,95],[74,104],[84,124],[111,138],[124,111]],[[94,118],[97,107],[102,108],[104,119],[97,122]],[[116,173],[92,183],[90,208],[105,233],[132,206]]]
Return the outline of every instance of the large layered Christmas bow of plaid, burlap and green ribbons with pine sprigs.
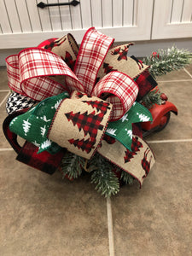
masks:
[[[113,38],[91,27],[80,48],[67,34],[9,56],[13,92],[3,131],[16,159],[49,174],[58,169],[70,180],[90,172],[105,196],[121,183],[141,186],[154,165],[142,125],[153,121],[150,108],[166,96],[156,88],[154,63],[127,55],[131,45],[113,47]],[[17,136],[26,140],[22,147]]]

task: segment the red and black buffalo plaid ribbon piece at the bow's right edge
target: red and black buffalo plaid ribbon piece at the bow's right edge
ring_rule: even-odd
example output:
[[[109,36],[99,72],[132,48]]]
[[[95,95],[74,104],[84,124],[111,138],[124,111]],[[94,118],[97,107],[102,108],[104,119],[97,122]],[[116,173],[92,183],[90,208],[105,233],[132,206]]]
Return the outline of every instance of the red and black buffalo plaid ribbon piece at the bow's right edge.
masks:
[[[136,79],[136,83],[139,88],[137,102],[141,101],[143,96],[145,96],[150,90],[157,86],[157,82],[153,79],[150,73],[148,73],[148,71],[141,73]]]

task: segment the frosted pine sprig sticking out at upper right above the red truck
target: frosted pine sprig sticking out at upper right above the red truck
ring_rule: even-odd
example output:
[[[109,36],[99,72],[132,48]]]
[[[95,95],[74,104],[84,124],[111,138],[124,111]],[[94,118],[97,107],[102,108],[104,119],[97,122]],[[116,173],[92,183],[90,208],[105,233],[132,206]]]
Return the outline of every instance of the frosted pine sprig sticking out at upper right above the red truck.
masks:
[[[191,61],[191,53],[186,49],[177,49],[176,46],[169,49],[158,49],[143,59],[143,63],[150,66],[148,71],[154,79],[157,76],[183,68]]]

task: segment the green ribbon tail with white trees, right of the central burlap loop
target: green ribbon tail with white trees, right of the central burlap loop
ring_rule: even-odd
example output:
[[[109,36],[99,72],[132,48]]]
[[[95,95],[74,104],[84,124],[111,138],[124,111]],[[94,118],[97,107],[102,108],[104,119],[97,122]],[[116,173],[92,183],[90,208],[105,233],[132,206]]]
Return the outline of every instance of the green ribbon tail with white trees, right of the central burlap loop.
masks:
[[[134,102],[131,109],[124,116],[114,122],[109,122],[106,134],[114,137],[125,148],[131,150],[132,143],[132,124],[152,121],[152,115],[147,108],[138,102]]]

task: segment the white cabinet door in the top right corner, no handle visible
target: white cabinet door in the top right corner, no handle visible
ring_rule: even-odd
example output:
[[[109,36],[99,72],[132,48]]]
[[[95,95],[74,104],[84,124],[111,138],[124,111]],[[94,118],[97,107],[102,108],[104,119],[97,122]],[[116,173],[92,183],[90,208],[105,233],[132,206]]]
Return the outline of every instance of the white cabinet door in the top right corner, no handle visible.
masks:
[[[192,0],[154,0],[152,39],[191,38]]]

